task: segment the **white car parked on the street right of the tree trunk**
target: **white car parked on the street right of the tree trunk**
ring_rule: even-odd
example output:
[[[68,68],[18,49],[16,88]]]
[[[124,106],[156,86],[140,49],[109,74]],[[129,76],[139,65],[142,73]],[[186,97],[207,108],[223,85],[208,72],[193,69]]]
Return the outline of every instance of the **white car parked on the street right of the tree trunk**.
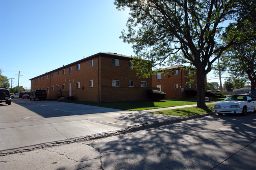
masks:
[[[214,105],[214,112],[218,115],[239,113],[245,116],[247,112],[255,110],[256,101],[250,95],[228,95],[224,101]]]

